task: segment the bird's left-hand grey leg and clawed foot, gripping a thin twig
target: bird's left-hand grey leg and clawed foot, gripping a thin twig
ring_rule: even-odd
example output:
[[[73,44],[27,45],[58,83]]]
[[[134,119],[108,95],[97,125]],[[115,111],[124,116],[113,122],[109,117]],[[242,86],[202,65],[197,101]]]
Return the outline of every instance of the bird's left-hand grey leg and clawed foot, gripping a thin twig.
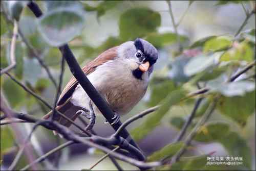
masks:
[[[83,108],[83,109],[78,110],[76,112],[76,114],[78,114],[80,112],[81,115],[90,119],[90,123],[85,128],[87,131],[90,131],[93,128],[93,126],[95,124],[95,119],[96,119],[96,116],[95,116],[95,113],[94,113],[94,110],[93,110],[93,106],[92,106],[92,101],[89,102],[89,106],[90,106],[90,110],[87,110],[86,108]]]

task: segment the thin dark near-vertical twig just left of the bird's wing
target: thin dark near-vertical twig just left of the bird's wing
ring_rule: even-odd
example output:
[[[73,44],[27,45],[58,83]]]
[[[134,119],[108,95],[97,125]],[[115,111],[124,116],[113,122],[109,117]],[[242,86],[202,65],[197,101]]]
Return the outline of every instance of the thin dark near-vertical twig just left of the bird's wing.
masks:
[[[61,65],[60,65],[60,75],[59,75],[59,85],[56,91],[56,96],[55,96],[55,102],[53,104],[53,108],[52,108],[52,120],[54,120],[56,118],[55,113],[56,113],[56,106],[57,106],[57,102],[59,99],[59,94],[61,91],[61,85],[62,85],[62,80],[63,80],[63,73],[64,73],[64,68],[65,68],[65,59],[61,58]]]

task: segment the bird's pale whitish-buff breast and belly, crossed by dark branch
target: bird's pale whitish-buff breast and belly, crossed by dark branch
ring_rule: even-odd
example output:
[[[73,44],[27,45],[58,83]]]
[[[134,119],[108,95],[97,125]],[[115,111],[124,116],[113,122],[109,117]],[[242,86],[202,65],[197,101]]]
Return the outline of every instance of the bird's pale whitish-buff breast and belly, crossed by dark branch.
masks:
[[[129,59],[126,59],[129,60]],[[114,60],[96,68],[88,79],[118,114],[126,114],[141,100],[147,89],[148,73],[142,80],[132,75],[131,61]],[[133,66],[134,67],[134,66]],[[89,97],[80,84],[76,87],[71,103],[75,106],[89,109]],[[100,112],[94,105],[96,114]]]

